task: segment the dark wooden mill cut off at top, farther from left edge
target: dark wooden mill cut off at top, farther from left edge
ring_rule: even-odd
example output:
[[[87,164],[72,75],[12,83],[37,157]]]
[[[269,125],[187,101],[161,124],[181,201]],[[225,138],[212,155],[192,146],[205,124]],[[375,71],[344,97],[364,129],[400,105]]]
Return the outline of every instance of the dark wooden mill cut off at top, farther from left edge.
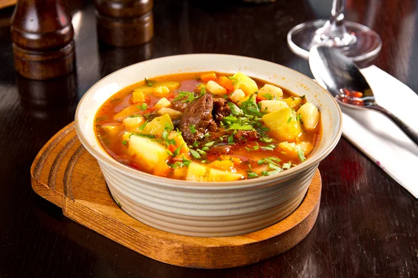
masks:
[[[130,47],[153,38],[153,0],[95,0],[95,8],[100,41]]]

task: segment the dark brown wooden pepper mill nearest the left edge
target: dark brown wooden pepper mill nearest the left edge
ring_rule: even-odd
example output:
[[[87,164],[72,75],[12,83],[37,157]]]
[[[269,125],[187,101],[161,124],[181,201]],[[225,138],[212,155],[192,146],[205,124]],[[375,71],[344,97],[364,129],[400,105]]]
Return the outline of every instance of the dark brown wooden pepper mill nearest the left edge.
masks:
[[[61,0],[18,0],[10,32],[22,76],[45,80],[75,69],[74,30]]]

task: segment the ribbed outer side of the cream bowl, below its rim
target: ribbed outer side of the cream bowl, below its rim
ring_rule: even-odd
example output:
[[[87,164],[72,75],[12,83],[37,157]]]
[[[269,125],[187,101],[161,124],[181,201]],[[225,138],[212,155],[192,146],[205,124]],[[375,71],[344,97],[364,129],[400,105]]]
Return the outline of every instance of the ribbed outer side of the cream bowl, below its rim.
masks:
[[[133,218],[163,231],[206,237],[246,234],[286,218],[302,202],[317,167],[277,183],[214,190],[132,179],[100,163],[111,195]]]

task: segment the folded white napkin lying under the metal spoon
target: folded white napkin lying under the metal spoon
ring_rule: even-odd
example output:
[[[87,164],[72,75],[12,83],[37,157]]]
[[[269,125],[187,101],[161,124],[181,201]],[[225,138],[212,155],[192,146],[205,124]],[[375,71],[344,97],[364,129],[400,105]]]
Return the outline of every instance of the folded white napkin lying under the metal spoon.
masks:
[[[418,95],[372,65],[362,69],[376,102],[418,131]],[[418,147],[391,120],[376,111],[343,111],[343,136],[418,198]]]

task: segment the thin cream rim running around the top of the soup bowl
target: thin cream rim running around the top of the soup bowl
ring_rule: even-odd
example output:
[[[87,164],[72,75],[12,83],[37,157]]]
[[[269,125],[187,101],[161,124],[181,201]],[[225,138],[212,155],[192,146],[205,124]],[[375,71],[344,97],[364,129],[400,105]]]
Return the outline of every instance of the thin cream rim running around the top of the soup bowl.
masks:
[[[334,138],[332,138],[332,141],[330,142],[330,144],[325,147],[325,149],[320,152],[320,154],[318,154],[318,156],[314,159],[310,159],[307,158],[306,161],[300,163],[299,165],[292,167],[291,169],[288,169],[286,171],[283,172],[279,172],[278,174],[274,174],[272,176],[265,176],[265,177],[258,177],[256,179],[244,179],[244,180],[239,180],[239,181],[206,181],[206,182],[200,182],[200,181],[186,181],[186,180],[178,180],[178,179],[169,179],[166,177],[159,177],[159,176],[155,176],[153,174],[148,174],[147,172],[143,172],[141,170],[136,170],[132,167],[128,167],[127,165],[123,165],[122,163],[119,163],[118,161],[116,161],[113,157],[111,157],[109,154],[107,154],[107,152],[103,149],[103,147],[100,145],[100,142],[98,142],[97,137],[95,138],[98,142],[98,144],[100,145],[100,147],[102,148],[102,151],[106,154],[102,154],[100,152],[98,152],[96,149],[94,149],[90,143],[88,142],[88,140],[86,139],[86,137],[84,136],[81,127],[79,126],[79,110],[80,110],[80,106],[82,106],[82,103],[84,101],[84,99],[86,98],[86,96],[93,90],[93,88],[95,88],[96,85],[98,85],[99,83],[101,83],[102,81],[104,81],[104,79],[107,79],[109,76],[112,76],[114,74],[118,74],[118,72],[122,71],[122,70],[127,70],[130,67],[134,67],[138,64],[141,63],[149,63],[150,61],[155,61],[155,60],[164,60],[167,58],[181,58],[181,57],[191,57],[191,56],[196,56],[196,58],[199,58],[199,56],[223,56],[223,57],[235,57],[235,58],[245,58],[249,61],[254,60],[254,61],[258,61],[258,63],[262,62],[262,63],[270,63],[272,65],[274,65],[275,67],[284,67],[286,70],[290,70],[292,72],[294,72],[296,75],[302,77],[303,79],[308,79],[307,82],[311,83],[314,86],[318,86],[319,88],[321,88],[324,92],[325,95],[328,95],[328,97],[330,97],[330,99],[332,99],[334,106],[336,107],[336,110],[338,112],[338,117],[339,117],[339,126],[338,126],[338,131],[336,132],[336,136],[334,136]],[[116,92],[115,92],[116,93]],[[96,111],[97,113],[97,111]],[[93,126],[92,126],[93,128]],[[273,63],[267,60],[262,60],[262,59],[258,59],[258,58],[252,58],[252,57],[247,57],[247,56],[238,56],[238,55],[230,55],[230,54],[180,54],[180,55],[172,55],[172,56],[164,56],[164,57],[159,57],[159,58],[154,58],[154,59],[150,59],[150,60],[144,60],[141,61],[139,63],[134,63],[132,65],[128,65],[127,67],[123,67],[120,70],[116,70],[115,72],[112,72],[111,74],[108,74],[107,76],[104,76],[102,79],[100,79],[99,81],[97,81],[96,83],[94,83],[91,88],[89,88],[83,95],[83,97],[79,100],[79,103],[77,104],[77,109],[75,111],[75,130],[77,132],[77,136],[79,138],[79,140],[82,142],[82,145],[86,148],[86,150],[92,155],[94,156],[99,163],[105,163],[108,167],[111,167],[112,170],[115,170],[116,172],[119,172],[121,174],[126,175],[127,177],[131,177],[133,179],[146,179],[146,181],[150,182],[150,183],[156,183],[159,186],[164,186],[164,187],[169,187],[169,188],[189,188],[189,189],[196,189],[196,190],[230,190],[230,189],[235,189],[235,188],[249,188],[249,187],[254,187],[254,186],[264,186],[267,184],[271,184],[274,181],[280,181],[281,179],[287,179],[287,178],[291,178],[293,176],[295,176],[296,174],[302,172],[303,170],[307,170],[307,168],[320,163],[320,161],[323,161],[323,159],[330,154],[330,152],[332,152],[332,149],[334,149],[334,147],[336,146],[336,144],[339,142],[339,139],[341,138],[341,134],[342,134],[342,129],[343,129],[343,117],[342,117],[342,112],[341,112],[341,108],[339,107],[339,104],[336,102],[336,100],[334,99],[334,97],[332,97],[332,95],[330,94],[330,92],[328,92],[327,90],[325,90],[325,88],[323,88],[323,86],[319,85],[318,83],[316,83],[313,79],[309,78],[309,76],[306,76],[300,72],[297,72],[296,70],[291,69],[290,67],[286,67],[284,65],[279,65],[277,63]],[[231,185],[231,183],[233,183],[233,185]]]

